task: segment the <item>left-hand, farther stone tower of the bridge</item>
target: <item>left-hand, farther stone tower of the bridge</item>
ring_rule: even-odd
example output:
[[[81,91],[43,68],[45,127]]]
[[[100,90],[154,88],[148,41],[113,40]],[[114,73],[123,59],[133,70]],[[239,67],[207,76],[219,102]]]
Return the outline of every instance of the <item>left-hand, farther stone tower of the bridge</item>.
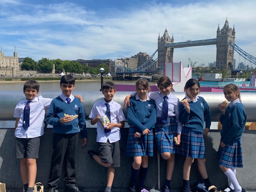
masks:
[[[164,68],[165,62],[173,61],[173,48],[165,47],[167,43],[174,43],[174,38],[170,38],[167,29],[164,31],[164,35],[160,38],[158,36],[158,68]]]

